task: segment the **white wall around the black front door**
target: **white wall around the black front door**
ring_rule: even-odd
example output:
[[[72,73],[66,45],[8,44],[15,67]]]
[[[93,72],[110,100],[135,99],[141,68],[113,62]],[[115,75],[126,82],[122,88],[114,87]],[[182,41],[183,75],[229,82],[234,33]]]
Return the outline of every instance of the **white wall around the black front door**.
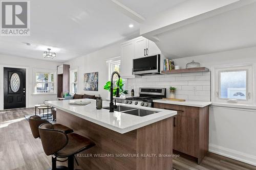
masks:
[[[35,60],[24,57],[16,57],[0,54],[0,110],[4,109],[4,67],[26,68],[26,107],[33,107],[35,104],[42,103],[45,100],[56,100],[57,94],[33,95],[32,70],[51,69],[56,70],[62,63],[44,60]]]

